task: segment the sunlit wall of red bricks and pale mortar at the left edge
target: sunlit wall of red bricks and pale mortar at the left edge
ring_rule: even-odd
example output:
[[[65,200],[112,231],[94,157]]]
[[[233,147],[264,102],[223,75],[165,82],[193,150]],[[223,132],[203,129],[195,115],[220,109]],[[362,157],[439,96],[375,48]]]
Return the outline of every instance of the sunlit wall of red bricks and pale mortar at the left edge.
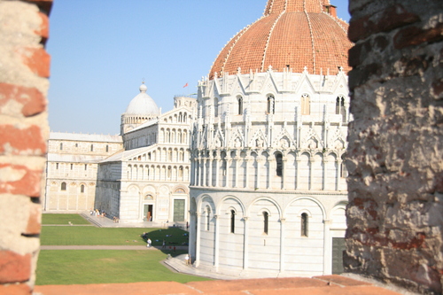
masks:
[[[41,228],[52,0],[0,0],[0,293],[30,294]]]

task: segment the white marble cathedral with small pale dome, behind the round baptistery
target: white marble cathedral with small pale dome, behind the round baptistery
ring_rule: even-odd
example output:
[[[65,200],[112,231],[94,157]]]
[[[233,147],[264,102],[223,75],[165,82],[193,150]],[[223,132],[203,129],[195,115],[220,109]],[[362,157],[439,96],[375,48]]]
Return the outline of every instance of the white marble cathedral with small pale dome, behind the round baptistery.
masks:
[[[161,113],[146,86],[121,115],[120,136],[51,132],[46,212],[98,209],[120,223],[188,221],[190,130],[196,99]]]

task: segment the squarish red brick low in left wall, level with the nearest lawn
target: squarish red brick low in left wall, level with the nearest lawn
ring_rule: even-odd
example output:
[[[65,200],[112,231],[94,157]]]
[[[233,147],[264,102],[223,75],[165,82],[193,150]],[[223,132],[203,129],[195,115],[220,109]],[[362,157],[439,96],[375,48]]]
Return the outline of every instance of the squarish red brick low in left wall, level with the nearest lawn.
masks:
[[[0,251],[0,283],[26,282],[31,276],[31,254]]]

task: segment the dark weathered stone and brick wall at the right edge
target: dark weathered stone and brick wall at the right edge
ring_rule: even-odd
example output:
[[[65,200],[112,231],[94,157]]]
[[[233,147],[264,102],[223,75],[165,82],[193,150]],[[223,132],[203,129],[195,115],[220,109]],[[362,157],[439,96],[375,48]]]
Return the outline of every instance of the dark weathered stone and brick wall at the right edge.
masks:
[[[351,0],[347,271],[443,282],[443,1]]]

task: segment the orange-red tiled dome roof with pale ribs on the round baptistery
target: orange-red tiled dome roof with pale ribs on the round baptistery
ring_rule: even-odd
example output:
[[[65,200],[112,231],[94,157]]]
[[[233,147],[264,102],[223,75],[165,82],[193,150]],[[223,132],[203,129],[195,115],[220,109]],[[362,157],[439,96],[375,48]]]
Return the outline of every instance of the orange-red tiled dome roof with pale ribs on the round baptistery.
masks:
[[[209,73],[265,72],[269,66],[283,72],[347,72],[348,25],[336,16],[329,0],[268,0],[263,16],[237,33],[221,50]]]

